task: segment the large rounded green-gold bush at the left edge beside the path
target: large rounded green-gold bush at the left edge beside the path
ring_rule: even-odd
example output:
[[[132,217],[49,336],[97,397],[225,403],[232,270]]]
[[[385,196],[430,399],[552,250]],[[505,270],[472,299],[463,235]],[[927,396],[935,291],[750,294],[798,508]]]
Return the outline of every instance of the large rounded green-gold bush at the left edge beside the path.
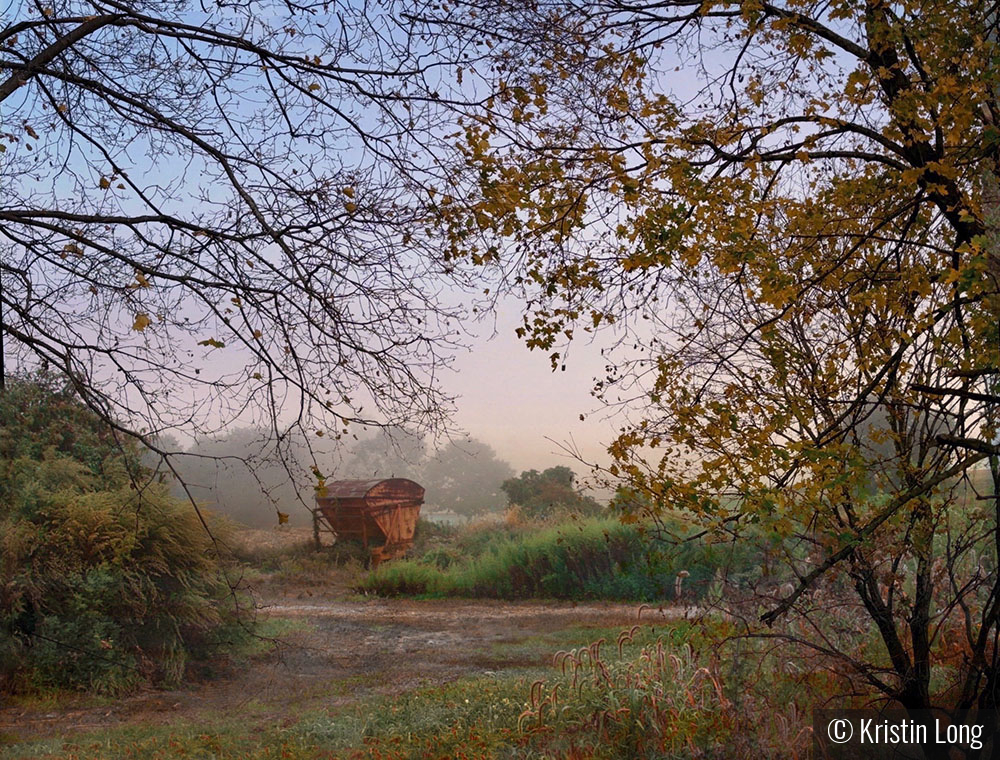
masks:
[[[176,682],[240,630],[212,538],[134,441],[44,379],[10,382],[0,424],[0,687]]]

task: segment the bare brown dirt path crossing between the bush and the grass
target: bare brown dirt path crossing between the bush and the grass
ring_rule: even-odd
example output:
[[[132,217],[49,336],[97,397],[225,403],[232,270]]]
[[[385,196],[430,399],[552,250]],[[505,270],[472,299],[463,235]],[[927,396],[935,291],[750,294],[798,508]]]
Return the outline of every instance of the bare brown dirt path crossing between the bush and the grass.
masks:
[[[537,666],[552,654],[545,637],[588,628],[627,627],[637,605],[466,600],[274,599],[260,614],[301,625],[248,667],[176,691],[150,691],[94,706],[0,704],[0,736],[66,736],[122,724],[211,722],[252,713],[254,720],[294,719],[302,711],[376,693],[399,693],[464,675]],[[646,623],[678,617],[646,608]]]

